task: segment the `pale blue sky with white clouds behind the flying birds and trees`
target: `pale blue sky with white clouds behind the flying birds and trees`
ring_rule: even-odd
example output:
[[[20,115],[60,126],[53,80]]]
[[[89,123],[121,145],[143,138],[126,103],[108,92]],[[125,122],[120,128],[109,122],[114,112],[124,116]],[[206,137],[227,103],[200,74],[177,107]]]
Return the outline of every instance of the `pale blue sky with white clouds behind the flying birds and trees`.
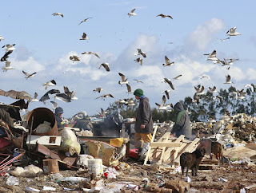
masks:
[[[175,104],[185,97],[193,97],[194,86],[204,85],[206,90],[214,85],[219,89],[228,89],[223,84],[230,74],[233,86],[244,89],[246,84],[256,81],[256,2],[237,0],[220,1],[5,1],[2,2],[0,17],[2,25],[1,47],[15,44],[15,50],[8,58],[14,69],[0,71],[0,89],[4,91],[26,91],[38,99],[50,89],[63,86],[76,92],[78,100],[65,103],[55,100],[64,109],[63,116],[69,118],[86,111],[89,116],[106,109],[110,103],[123,98],[134,98],[127,94],[126,85],[118,85],[123,73],[132,90],[142,89],[150,99],[151,108],[155,102],[161,104],[162,91],[170,89],[163,78],[172,79],[182,74],[180,80],[174,80],[174,90],[170,92],[167,103]],[[136,16],[128,17],[136,9]],[[58,12],[61,16],[54,16]],[[173,19],[156,17],[168,14]],[[87,22],[82,22],[83,19]],[[78,25],[82,22],[80,25]],[[228,37],[226,31],[236,26],[240,36]],[[89,40],[80,40],[86,33]],[[170,43],[171,42],[171,43]],[[146,58],[142,66],[134,61],[136,49],[142,49]],[[221,64],[206,61],[205,53],[217,50],[217,57],[238,58],[230,69]],[[82,54],[86,51],[97,53]],[[0,50],[0,57],[5,53]],[[70,61],[76,55],[80,61]],[[164,67],[165,56],[174,65]],[[107,62],[110,72],[98,67]],[[0,62],[0,68],[5,62]],[[36,75],[26,79],[22,73]],[[200,77],[206,74],[210,80]],[[143,81],[137,83],[134,79]],[[42,83],[54,80],[57,85],[46,90]],[[102,93],[93,90],[102,87]],[[111,93],[114,98],[96,99],[102,94]],[[216,93],[215,95],[218,95]],[[38,107],[52,108],[50,100],[46,104],[31,102],[29,110]],[[134,98],[135,100],[135,98]],[[16,100],[0,96],[0,102],[10,104]]]

